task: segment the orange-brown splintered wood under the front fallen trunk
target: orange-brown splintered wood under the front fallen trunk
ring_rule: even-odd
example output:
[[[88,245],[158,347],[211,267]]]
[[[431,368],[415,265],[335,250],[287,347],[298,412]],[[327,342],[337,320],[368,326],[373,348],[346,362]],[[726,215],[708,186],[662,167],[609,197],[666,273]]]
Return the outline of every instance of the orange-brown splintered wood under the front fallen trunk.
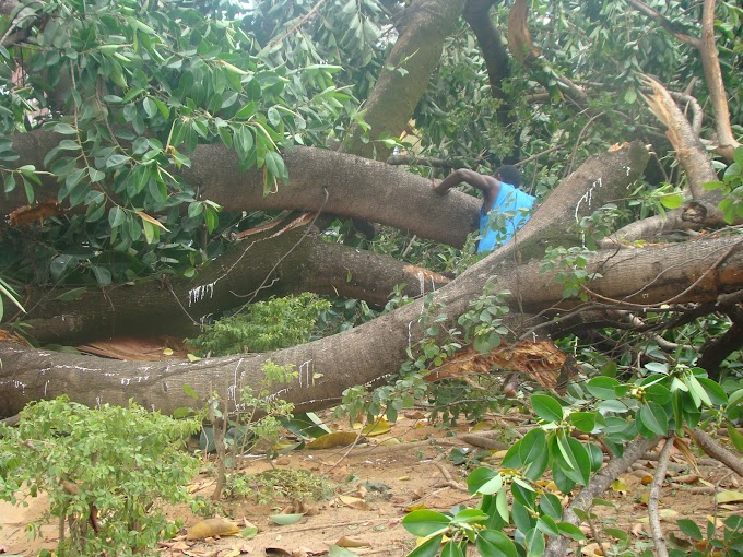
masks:
[[[517,371],[545,389],[564,392],[570,377],[577,375],[578,367],[573,357],[563,354],[551,341],[521,341],[498,346],[490,354],[481,354],[468,346],[433,369],[425,379],[463,379],[494,370]]]

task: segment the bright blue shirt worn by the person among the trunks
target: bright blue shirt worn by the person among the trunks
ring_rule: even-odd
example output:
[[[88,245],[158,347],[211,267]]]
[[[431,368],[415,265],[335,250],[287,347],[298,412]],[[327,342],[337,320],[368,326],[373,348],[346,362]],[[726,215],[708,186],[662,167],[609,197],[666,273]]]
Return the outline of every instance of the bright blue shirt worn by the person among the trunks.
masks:
[[[535,199],[510,183],[500,182],[500,191],[493,202],[493,209],[487,213],[484,212],[484,208],[480,210],[481,238],[477,253],[491,251],[510,240],[516,230],[529,221],[531,215],[524,214],[524,212],[534,206]],[[505,212],[510,213],[506,215],[505,228],[497,227],[494,229],[491,224],[497,223],[497,215]],[[498,226],[498,224],[495,224],[495,226]]]

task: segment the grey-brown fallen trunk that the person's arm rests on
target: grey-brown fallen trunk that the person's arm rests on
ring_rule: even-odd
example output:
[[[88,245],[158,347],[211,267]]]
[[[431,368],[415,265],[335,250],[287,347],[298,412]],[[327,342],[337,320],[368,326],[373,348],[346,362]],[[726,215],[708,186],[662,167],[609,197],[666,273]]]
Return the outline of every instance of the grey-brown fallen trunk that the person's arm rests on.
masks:
[[[50,132],[13,135],[20,155],[15,166],[31,164],[45,169],[44,156],[61,139]],[[260,170],[240,171],[237,155],[223,145],[200,145],[190,155],[191,168],[182,176],[209,199],[229,211],[295,209],[378,222],[410,230],[455,247],[464,245],[477,220],[476,199],[456,192],[447,203],[431,194],[431,182],[384,163],[333,151],[295,147],[282,153],[290,182],[276,193],[263,197]],[[46,180],[37,199],[57,199],[58,185]],[[0,204],[0,216],[26,203],[23,188],[16,188]],[[380,212],[379,208],[385,211]]]

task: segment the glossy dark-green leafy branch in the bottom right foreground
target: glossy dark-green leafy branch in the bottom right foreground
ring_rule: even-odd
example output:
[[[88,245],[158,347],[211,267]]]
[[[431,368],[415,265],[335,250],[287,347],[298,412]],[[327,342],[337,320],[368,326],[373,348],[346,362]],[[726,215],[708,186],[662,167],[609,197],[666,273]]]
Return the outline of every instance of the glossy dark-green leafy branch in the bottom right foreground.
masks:
[[[577,526],[562,520],[557,495],[540,483],[551,471],[556,489],[570,494],[577,485],[587,486],[601,467],[601,448],[579,441],[573,430],[598,436],[622,454],[624,443],[638,434],[660,438],[674,431],[682,435],[683,426],[696,427],[701,420],[717,426],[738,422],[743,389],[729,398],[701,369],[648,365],[634,381],[598,376],[585,383],[585,390],[574,386],[567,400],[536,393],[530,403],[541,427],[511,446],[499,470],[481,466],[468,476],[470,493],[482,497],[476,508],[457,507],[450,513],[416,510],[405,517],[405,529],[425,538],[409,555],[438,555],[444,535],[449,541],[440,555],[464,555],[470,543],[483,556],[542,555],[545,536],[583,540]],[[739,524],[733,522],[724,542],[712,546],[740,544]],[[512,540],[504,533],[511,528]]]

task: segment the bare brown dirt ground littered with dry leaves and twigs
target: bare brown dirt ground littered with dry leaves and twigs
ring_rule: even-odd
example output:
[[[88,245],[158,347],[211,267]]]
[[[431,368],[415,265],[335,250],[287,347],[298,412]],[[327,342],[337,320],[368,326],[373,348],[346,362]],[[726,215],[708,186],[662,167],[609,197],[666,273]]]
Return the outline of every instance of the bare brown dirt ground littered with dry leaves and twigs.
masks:
[[[347,424],[339,423],[335,427],[350,430]],[[509,432],[514,435],[519,429],[512,420],[509,423],[503,418],[493,418],[474,427],[479,435],[493,428],[500,431],[499,437],[506,440]],[[472,460],[473,454],[479,455],[479,462],[491,466],[497,466],[505,454],[504,450],[479,449],[457,437],[472,429],[472,424],[456,428],[432,427],[418,415],[408,414],[389,432],[368,438],[353,449],[293,451],[272,463],[266,459],[251,459],[245,473],[255,474],[272,466],[303,469],[326,477],[334,486],[333,491],[328,499],[306,503],[300,509],[306,514],[298,523],[291,525],[278,525],[269,519],[291,506],[291,500],[276,499],[273,505],[258,505],[249,498],[224,501],[221,514],[232,519],[240,532],[246,525],[257,526],[258,533],[252,537],[238,534],[188,540],[188,529],[203,517],[192,514],[188,508],[169,509],[169,515],[182,519],[186,528],[175,540],[164,542],[160,552],[166,557],[302,557],[327,555],[330,547],[338,544],[357,555],[404,556],[415,543],[414,537],[401,525],[405,510],[425,506],[448,511],[457,505],[476,505],[476,499],[461,489],[468,470],[477,465]],[[448,458],[455,449],[463,450],[457,451],[457,457],[464,460],[464,464],[455,465]],[[696,464],[698,477],[695,477],[696,471],[683,454],[675,453],[672,457],[661,497],[661,513],[665,517],[663,526],[668,532],[677,532],[675,520],[679,518],[695,520],[704,531],[707,517],[716,514],[724,519],[730,514],[743,513],[743,503],[740,501],[716,506],[715,496],[710,493],[715,487],[740,491],[741,478],[708,458],[699,457]],[[645,522],[642,520],[647,517],[644,500],[647,500],[649,489],[645,484],[653,472],[652,460],[640,461],[636,470],[621,476],[615,489],[604,495],[614,507],[597,508],[597,529],[615,528],[630,533],[630,548],[635,548],[637,554],[650,546],[647,519]],[[211,495],[213,478],[198,478],[192,489],[203,496]],[[46,505],[44,497],[30,499],[25,508],[13,508],[0,502],[0,555],[32,556],[42,548],[55,547],[58,535],[56,524],[43,526],[42,538],[30,541],[25,536],[26,524],[38,520]],[[609,540],[611,536],[606,535],[604,541]],[[576,544],[575,550],[576,554],[594,555],[590,544],[588,547]],[[330,555],[352,554],[333,549]]]

